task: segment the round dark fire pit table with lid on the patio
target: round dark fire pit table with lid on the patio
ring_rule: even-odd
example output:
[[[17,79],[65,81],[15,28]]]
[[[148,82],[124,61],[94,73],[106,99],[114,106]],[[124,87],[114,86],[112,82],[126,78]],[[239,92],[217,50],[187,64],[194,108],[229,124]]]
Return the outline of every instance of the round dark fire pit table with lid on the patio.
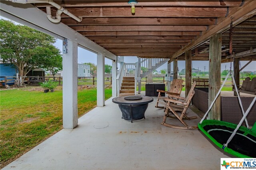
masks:
[[[133,121],[145,119],[145,111],[148,108],[148,103],[154,99],[148,96],[122,96],[112,99],[112,102],[117,103],[121,112],[122,119]]]

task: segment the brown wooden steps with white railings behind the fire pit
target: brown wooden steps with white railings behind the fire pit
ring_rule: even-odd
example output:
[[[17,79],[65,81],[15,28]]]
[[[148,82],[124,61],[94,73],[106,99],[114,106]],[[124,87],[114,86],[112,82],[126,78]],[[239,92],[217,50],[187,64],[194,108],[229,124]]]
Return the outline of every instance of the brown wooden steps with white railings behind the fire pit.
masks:
[[[134,77],[123,77],[121,90],[119,96],[132,96],[134,95]]]

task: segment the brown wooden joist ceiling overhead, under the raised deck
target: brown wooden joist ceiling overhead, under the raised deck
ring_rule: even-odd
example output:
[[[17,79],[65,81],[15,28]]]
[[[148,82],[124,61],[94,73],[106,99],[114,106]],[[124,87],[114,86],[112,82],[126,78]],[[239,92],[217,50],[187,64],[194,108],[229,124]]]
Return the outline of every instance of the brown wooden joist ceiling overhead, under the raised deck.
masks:
[[[62,14],[61,22],[118,56],[170,58],[210,27],[217,26],[229,12],[244,5],[244,0],[138,0],[132,15],[128,0],[55,1],[77,22]],[[49,4],[35,4],[46,12]],[[56,14],[56,8],[52,15]],[[235,53],[256,48],[256,16],[234,28]],[[222,34],[223,59],[229,55],[229,30]],[[209,43],[192,50],[193,60],[208,60]],[[226,50],[226,51],[225,51]],[[256,58],[251,55],[250,59]],[[179,59],[184,59],[180,55]],[[248,58],[243,58],[248,60]]]

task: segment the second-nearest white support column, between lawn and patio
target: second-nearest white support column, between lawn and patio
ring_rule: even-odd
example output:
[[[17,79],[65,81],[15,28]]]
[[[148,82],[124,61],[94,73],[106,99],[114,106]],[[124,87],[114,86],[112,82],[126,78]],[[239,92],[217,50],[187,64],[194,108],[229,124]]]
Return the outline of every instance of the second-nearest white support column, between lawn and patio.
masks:
[[[97,55],[97,106],[105,105],[105,55]]]

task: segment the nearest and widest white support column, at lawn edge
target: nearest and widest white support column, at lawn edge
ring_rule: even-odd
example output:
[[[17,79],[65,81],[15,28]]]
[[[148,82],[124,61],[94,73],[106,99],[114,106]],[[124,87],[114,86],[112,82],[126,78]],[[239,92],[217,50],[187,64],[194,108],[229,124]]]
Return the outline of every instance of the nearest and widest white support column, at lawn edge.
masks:
[[[78,125],[77,108],[77,43],[67,40],[67,53],[62,55],[63,63],[63,128]]]

